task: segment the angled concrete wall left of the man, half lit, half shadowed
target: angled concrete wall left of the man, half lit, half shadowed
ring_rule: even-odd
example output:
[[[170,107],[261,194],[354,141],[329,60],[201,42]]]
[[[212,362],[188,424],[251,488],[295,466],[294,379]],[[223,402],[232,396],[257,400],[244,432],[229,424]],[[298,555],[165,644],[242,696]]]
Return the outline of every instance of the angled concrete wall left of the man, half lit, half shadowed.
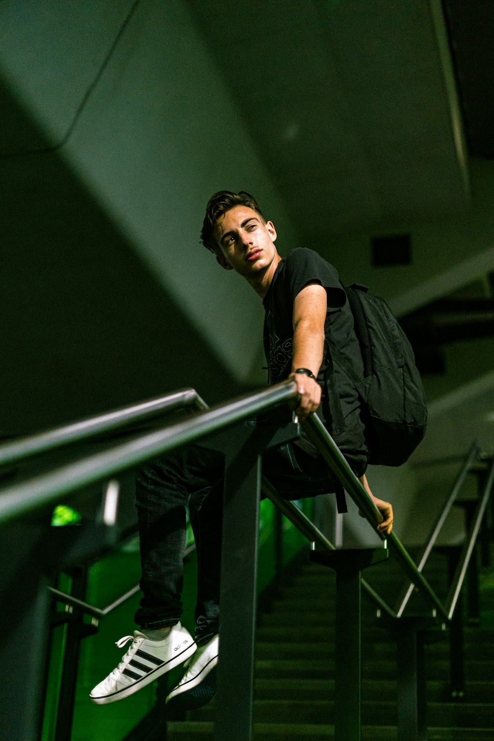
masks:
[[[4,433],[262,385],[261,302],[199,245],[207,199],[252,190],[296,240],[187,3],[6,0],[0,79]]]

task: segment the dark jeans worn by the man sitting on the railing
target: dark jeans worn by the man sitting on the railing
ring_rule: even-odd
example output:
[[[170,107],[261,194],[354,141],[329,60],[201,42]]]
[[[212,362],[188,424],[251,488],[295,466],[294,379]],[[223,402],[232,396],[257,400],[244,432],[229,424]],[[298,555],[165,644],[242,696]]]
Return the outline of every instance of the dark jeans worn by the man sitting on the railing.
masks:
[[[288,444],[263,457],[262,470],[287,499],[335,491],[324,461]],[[144,466],[136,476],[141,539],[141,628],[175,625],[181,618],[186,506],[196,539],[196,641],[218,633],[224,456],[190,445]]]

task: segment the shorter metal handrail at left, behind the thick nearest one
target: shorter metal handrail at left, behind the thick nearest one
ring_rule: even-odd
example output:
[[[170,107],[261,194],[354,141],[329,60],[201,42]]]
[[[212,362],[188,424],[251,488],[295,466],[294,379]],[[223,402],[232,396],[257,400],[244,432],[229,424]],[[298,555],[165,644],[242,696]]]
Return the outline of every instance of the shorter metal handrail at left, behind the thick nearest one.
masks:
[[[159,396],[158,399],[150,399],[147,402],[83,419],[81,422],[73,422],[70,425],[4,443],[0,445],[0,465],[25,460],[39,453],[46,453],[101,433],[120,430],[130,422],[137,420],[141,422],[159,413],[185,407],[207,409],[207,404],[193,388],[184,388],[169,393],[167,396]]]

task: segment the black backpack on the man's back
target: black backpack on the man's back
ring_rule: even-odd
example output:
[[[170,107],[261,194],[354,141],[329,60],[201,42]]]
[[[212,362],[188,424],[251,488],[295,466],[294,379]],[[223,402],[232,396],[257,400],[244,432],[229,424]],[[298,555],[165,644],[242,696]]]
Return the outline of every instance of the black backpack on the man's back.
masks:
[[[401,465],[421,442],[427,425],[424,387],[413,350],[384,299],[358,283],[344,290],[361,346],[364,378],[356,376],[331,340],[330,353],[363,402],[369,462]]]

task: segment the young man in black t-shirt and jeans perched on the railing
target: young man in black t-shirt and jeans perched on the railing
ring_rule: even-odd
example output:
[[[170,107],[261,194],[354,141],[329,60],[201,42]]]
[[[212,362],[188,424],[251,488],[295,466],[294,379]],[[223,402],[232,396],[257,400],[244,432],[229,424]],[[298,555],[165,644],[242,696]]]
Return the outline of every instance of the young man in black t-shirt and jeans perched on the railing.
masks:
[[[273,223],[265,221],[256,201],[244,191],[221,191],[212,196],[201,241],[222,268],[244,277],[263,300],[269,382],[286,378],[296,382],[299,418],[317,411],[381,511],[384,519],[378,530],[390,533],[393,508],[373,496],[365,477],[369,453],[358,393],[330,356],[329,340],[362,375],[353,316],[335,268],[305,248],[281,259]],[[170,708],[198,707],[213,697],[218,661],[222,465],[219,453],[192,445],[139,471],[136,504],[143,598],[135,619],[141,631],[118,642],[121,647],[132,640],[118,667],[91,692],[93,702],[105,704],[127,697],[182,662],[187,662],[186,671],[167,697]],[[305,436],[267,453],[263,472],[289,499],[334,492],[340,486]],[[198,557],[196,642],[179,622],[186,506]]]

